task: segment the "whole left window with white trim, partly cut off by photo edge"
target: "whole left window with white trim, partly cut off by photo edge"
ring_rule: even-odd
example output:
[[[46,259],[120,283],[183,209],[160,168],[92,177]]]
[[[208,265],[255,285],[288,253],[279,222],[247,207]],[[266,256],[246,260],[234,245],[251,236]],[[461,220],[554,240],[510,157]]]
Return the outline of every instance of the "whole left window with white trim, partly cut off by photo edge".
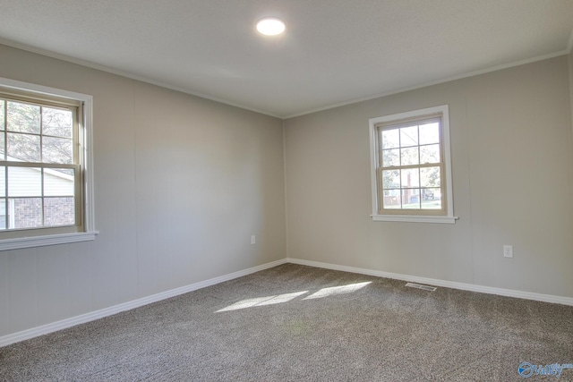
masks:
[[[91,97],[0,78],[0,250],[93,240]]]

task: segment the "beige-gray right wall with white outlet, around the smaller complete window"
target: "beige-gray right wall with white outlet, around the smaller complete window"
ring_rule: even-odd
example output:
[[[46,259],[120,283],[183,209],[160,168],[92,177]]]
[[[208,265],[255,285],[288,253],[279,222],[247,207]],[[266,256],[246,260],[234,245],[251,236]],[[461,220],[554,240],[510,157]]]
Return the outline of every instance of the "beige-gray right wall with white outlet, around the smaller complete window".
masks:
[[[444,104],[458,222],[373,222],[368,119]],[[573,297],[571,133],[567,55],[288,119],[288,255]]]

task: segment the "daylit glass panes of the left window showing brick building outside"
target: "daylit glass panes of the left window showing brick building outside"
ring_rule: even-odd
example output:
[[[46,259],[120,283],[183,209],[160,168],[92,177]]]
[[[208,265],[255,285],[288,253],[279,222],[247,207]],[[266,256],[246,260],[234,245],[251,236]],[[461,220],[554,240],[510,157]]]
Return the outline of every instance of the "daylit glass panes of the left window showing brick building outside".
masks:
[[[81,225],[81,104],[0,98],[0,230]]]

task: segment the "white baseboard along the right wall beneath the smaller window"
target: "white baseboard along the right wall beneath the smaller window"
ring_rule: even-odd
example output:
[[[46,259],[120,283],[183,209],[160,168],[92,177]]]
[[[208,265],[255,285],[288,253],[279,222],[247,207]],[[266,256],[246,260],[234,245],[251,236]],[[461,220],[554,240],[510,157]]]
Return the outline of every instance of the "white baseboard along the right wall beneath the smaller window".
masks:
[[[554,296],[552,294],[522,292],[522,291],[515,291],[512,289],[494,288],[492,286],[457,283],[454,281],[439,280],[439,279],[435,279],[435,278],[408,276],[408,275],[401,275],[398,273],[382,272],[380,270],[364,269],[364,268],[359,268],[359,267],[346,267],[346,266],[339,266],[336,264],[321,263],[318,261],[309,261],[309,260],[302,260],[302,259],[287,258],[286,262],[287,263],[293,263],[293,264],[300,264],[300,265],[309,266],[309,267],[322,267],[322,268],[326,268],[326,269],[341,270],[341,271],[345,271],[345,272],[358,273],[361,275],[393,278],[396,280],[403,280],[403,281],[413,282],[413,283],[418,283],[418,284],[431,284],[434,286],[443,286],[444,288],[460,289],[462,291],[498,294],[500,296],[517,297],[519,299],[552,302],[552,303],[558,303],[558,304],[573,306],[573,298]]]

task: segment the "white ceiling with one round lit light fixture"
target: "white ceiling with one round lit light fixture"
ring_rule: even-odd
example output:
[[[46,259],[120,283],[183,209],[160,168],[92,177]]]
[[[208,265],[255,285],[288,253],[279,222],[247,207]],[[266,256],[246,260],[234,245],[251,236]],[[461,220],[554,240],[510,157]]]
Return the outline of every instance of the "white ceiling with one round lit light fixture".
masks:
[[[279,117],[562,55],[572,30],[573,0],[0,0],[4,44]]]

